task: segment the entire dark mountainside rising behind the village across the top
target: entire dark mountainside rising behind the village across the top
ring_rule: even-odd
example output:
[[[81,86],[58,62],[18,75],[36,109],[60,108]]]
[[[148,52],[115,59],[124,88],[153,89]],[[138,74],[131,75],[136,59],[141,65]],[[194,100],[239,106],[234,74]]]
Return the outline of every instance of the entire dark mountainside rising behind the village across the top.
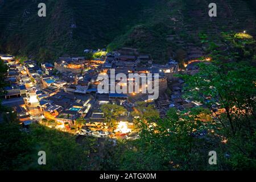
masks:
[[[38,3],[47,6],[39,18]],[[216,0],[0,1],[0,52],[52,60],[86,48],[136,47],[156,62],[203,53],[199,33],[216,39],[221,31],[256,35],[254,1]]]

